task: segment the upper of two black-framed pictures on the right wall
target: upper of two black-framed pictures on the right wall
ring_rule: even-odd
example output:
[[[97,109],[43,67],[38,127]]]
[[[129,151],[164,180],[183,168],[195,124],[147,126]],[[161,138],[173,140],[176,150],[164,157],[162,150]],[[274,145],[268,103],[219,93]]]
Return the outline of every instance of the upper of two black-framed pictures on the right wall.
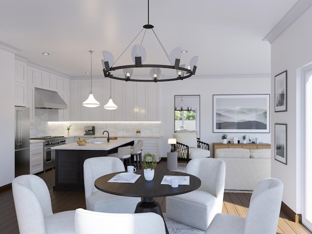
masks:
[[[274,77],[274,111],[287,111],[287,70]]]

